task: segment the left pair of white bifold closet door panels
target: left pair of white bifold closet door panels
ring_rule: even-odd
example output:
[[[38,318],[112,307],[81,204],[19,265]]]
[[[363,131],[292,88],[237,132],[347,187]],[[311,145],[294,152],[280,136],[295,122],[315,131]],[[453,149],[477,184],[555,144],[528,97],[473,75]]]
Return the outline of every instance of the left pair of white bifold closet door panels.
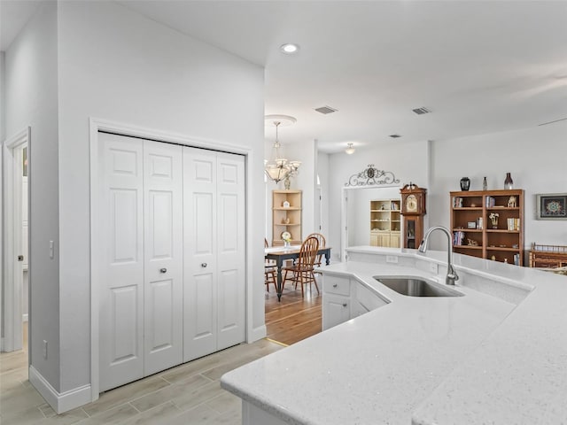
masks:
[[[100,390],[183,362],[180,146],[99,134]]]

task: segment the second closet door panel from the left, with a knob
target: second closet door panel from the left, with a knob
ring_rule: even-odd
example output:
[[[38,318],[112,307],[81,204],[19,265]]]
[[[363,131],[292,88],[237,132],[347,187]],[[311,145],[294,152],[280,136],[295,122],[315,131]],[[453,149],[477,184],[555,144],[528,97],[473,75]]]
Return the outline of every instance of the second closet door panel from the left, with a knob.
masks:
[[[182,147],[144,141],[144,374],[183,362]]]

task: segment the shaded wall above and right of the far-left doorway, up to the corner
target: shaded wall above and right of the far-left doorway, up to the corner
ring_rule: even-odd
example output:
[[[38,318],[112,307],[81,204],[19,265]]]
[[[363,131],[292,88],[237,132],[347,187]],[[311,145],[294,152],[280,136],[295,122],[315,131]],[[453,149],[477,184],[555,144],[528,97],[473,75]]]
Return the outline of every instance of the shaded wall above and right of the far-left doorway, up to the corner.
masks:
[[[37,319],[32,318],[29,329],[30,359],[55,389],[60,388],[57,13],[55,2],[43,2],[5,53],[5,136],[31,127],[29,296]],[[54,259],[49,258],[49,241],[55,241]],[[43,339],[49,343],[47,359]]]

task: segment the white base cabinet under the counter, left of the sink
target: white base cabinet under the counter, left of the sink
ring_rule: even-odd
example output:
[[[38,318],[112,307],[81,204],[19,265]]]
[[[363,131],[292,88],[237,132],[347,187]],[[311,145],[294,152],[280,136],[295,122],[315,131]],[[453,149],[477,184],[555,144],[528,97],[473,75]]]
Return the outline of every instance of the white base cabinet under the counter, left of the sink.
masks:
[[[322,330],[388,304],[355,279],[330,274],[322,282]]]

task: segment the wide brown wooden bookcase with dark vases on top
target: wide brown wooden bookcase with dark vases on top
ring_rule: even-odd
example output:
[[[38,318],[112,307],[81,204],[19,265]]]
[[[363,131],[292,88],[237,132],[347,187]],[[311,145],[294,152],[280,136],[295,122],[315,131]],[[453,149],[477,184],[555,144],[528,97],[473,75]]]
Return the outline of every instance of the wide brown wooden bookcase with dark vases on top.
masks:
[[[450,192],[450,203],[455,252],[524,266],[523,189]]]

